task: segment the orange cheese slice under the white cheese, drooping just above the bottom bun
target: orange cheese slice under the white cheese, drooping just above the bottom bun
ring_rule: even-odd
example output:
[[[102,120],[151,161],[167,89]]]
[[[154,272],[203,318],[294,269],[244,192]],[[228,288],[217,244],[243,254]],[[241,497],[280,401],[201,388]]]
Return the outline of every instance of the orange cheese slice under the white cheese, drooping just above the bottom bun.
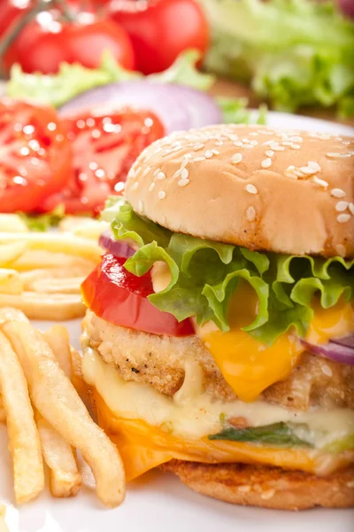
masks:
[[[119,450],[127,481],[173,458],[205,464],[242,462],[276,465],[316,474],[330,474],[350,465],[353,454],[329,455],[318,450],[272,449],[253,443],[185,440],[147,424],[142,419],[122,419],[113,414],[94,392],[99,426],[104,428]]]

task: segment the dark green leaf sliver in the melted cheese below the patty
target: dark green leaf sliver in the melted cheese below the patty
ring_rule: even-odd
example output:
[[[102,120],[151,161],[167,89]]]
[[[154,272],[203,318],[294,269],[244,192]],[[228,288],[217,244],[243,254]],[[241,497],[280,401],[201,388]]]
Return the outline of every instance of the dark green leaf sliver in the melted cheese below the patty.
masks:
[[[312,443],[297,437],[290,426],[283,422],[249,428],[229,427],[218,434],[210,435],[209,440],[265,443],[279,447],[312,447]]]

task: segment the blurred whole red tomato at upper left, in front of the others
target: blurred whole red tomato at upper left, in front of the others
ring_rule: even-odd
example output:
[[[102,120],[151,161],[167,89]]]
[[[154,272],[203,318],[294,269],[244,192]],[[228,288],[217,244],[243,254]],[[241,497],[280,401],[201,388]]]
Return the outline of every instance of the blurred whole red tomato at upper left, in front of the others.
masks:
[[[127,69],[135,67],[135,54],[124,29],[112,20],[96,20],[93,13],[80,13],[76,22],[63,22],[57,10],[39,13],[27,24],[4,57],[7,70],[19,63],[25,72],[58,72],[62,61],[99,66],[104,51],[110,51]]]

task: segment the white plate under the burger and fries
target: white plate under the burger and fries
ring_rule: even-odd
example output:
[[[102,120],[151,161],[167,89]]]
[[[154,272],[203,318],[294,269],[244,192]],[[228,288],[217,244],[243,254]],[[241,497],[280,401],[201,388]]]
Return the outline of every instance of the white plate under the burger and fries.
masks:
[[[287,113],[269,113],[274,127],[307,129],[354,135],[354,129]],[[45,330],[50,323],[37,323]],[[73,345],[79,347],[80,320],[67,324]],[[170,474],[148,473],[129,484],[127,499],[115,510],[104,510],[97,502],[92,476],[85,468],[84,489],[78,497],[58,500],[48,489],[34,503],[14,506],[11,460],[7,436],[0,426],[0,501],[7,505],[10,532],[350,532],[354,522],[351,510],[311,510],[276,512],[227,505],[199,496]]]

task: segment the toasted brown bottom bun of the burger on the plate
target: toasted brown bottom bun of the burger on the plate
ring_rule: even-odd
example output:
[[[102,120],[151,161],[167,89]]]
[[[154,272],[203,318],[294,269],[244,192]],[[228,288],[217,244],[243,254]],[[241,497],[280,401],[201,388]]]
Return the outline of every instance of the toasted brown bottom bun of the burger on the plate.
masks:
[[[210,465],[181,460],[172,460],[162,469],[175,473],[197,493],[233,505],[274,510],[354,507],[354,465],[327,477],[266,465]]]

